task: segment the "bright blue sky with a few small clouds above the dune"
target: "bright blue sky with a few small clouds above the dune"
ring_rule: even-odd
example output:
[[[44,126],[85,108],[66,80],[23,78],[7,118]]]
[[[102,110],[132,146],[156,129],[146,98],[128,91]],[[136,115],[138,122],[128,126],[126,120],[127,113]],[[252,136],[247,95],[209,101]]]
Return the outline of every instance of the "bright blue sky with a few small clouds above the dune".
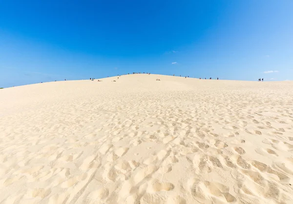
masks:
[[[128,72],[293,80],[293,0],[0,0],[0,87]]]

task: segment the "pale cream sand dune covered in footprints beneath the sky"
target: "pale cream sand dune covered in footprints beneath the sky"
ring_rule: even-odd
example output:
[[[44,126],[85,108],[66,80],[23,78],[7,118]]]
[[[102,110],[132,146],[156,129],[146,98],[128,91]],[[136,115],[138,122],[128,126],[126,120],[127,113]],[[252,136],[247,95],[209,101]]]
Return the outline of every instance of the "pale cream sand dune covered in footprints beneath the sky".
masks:
[[[0,90],[1,204],[290,204],[292,151],[293,82],[138,74]]]

